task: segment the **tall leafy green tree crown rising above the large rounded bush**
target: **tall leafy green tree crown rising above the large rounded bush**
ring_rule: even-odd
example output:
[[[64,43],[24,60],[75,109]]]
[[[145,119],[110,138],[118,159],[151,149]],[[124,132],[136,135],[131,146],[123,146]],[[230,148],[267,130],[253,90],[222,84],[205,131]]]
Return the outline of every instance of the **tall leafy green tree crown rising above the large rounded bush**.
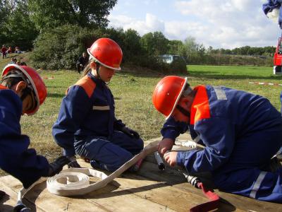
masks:
[[[106,28],[107,16],[117,0],[27,0],[39,30],[65,24]]]

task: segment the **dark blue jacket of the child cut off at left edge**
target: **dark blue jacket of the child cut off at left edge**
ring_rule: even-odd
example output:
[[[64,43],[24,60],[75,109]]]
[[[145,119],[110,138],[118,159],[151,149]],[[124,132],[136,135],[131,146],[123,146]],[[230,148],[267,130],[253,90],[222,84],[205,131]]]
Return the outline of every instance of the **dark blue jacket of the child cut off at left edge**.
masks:
[[[30,139],[20,131],[23,103],[18,95],[0,85],[0,167],[27,188],[39,177],[47,176],[49,163],[35,149]]]

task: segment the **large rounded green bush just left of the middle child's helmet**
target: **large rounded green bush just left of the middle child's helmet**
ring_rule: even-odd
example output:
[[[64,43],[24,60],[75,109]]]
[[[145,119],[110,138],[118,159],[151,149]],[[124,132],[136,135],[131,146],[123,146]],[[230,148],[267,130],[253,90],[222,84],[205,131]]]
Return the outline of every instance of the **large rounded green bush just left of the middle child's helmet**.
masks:
[[[33,66],[43,69],[74,69],[78,57],[103,37],[101,30],[88,30],[77,25],[63,25],[42,33],[35,40],[30,55]]]

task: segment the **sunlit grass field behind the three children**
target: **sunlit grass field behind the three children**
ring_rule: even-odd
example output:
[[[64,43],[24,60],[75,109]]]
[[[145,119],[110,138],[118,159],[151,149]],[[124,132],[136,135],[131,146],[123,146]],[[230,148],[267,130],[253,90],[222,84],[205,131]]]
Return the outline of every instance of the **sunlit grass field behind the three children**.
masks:
[[[1,70],[10,60],[0,59]],[[54,79],[44,80],[48,97],[37,114],[22,117],[22,131],[23,134],[30,136],[31,147],[36,148],[37,152],[47,158],[54,159],[61,154],[61,148],[56,145],[51,136],[51,126],[56,120],[66,89],[78,81],[80,75],[75,71],[64,70],[39,71],[39,73],[43,78],[54,77]],[[251,81],[282,83],[282,76],[274,76],[272,67],[191,65],[188,66],[187,76],[191,86],[221,85],[263,95],[280,110],[279,95],[282,87],[249,84]],[[126,71],[116,73],[109,84],[115,97],[116,117],[139,131],[144,140],[160,136],[159,130],[164,123],[164,117],[152,105],[154,86],[162,77],[156,72],[143,73],[142,71],[136,72],[134,69],[126,69]]]

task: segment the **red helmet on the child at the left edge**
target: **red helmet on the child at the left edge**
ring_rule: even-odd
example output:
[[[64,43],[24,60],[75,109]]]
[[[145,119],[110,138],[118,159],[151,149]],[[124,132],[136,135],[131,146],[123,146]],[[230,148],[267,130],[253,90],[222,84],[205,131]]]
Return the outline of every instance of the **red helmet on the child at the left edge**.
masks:
[[[42,81],[42,78],[35,71],[35,69],[30,68],[29,66],[18,66],[16,64],[8,64],[2,71],[2,78],[6,76],[9,71],[15,70],[20,71],[25,76],[25,82],[27,86],[30,86],[35,93],[36,106],[34,109],[25,112],[28,115],[35,114],[39,109],[39,105],[42,105],[45,98],[47,97],[47,88]]]

